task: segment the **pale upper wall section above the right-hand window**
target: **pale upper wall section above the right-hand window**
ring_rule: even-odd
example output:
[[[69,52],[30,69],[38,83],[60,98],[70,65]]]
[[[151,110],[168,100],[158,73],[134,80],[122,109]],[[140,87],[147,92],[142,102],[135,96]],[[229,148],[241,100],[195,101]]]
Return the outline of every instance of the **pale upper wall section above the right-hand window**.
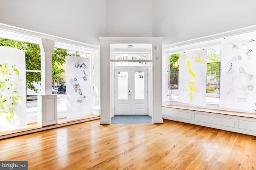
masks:
[[[256,25],[255,0],[153,0],[154,37],[167,45]]]

